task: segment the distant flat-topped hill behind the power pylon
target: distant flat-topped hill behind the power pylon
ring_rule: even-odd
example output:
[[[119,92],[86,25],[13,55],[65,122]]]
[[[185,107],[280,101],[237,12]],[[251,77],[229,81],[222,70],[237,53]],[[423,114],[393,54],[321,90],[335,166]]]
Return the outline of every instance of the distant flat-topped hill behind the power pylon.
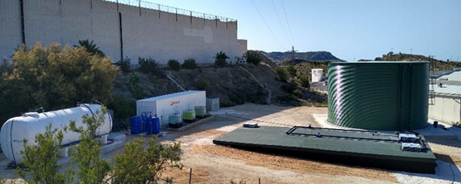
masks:
[[[284,60],[290,60],[293,56],[291,52],[263,52],[266,56],[272,58],[272,60],[282,63]],[[315,51],[315,52],[296,52],[295,58],[306,61],[343,61],[330,52],[326,51]]]

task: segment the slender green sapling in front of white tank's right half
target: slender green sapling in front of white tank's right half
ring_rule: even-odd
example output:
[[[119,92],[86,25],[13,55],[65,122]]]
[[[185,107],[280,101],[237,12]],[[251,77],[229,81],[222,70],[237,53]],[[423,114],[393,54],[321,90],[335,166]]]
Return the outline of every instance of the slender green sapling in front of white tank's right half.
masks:
[[[77,175],[84,184],[102,183],[106,173],[111,170],[109,162],[101,158],[100,141],[96,138],[97,129],[104,124],[107,109],[96,110],[95,115],[83,115],[83,127],[77,127],[75,121],[69,124],[69,130],[80,133],[80,144],[71,152],[72,161],[80,170]]]

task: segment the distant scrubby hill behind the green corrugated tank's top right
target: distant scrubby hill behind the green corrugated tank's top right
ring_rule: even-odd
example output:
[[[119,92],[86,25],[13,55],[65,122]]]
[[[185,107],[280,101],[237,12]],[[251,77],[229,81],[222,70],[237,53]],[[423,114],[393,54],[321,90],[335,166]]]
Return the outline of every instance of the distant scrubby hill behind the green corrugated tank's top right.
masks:
[[[453,70],[453,68],[461,67],[461,62],[441,61],[423,55],[405,53],[394,54],[393,52],[383,54],[383,57],[376,57],[375,61],[429,61],[434,69],[439,70]]]

